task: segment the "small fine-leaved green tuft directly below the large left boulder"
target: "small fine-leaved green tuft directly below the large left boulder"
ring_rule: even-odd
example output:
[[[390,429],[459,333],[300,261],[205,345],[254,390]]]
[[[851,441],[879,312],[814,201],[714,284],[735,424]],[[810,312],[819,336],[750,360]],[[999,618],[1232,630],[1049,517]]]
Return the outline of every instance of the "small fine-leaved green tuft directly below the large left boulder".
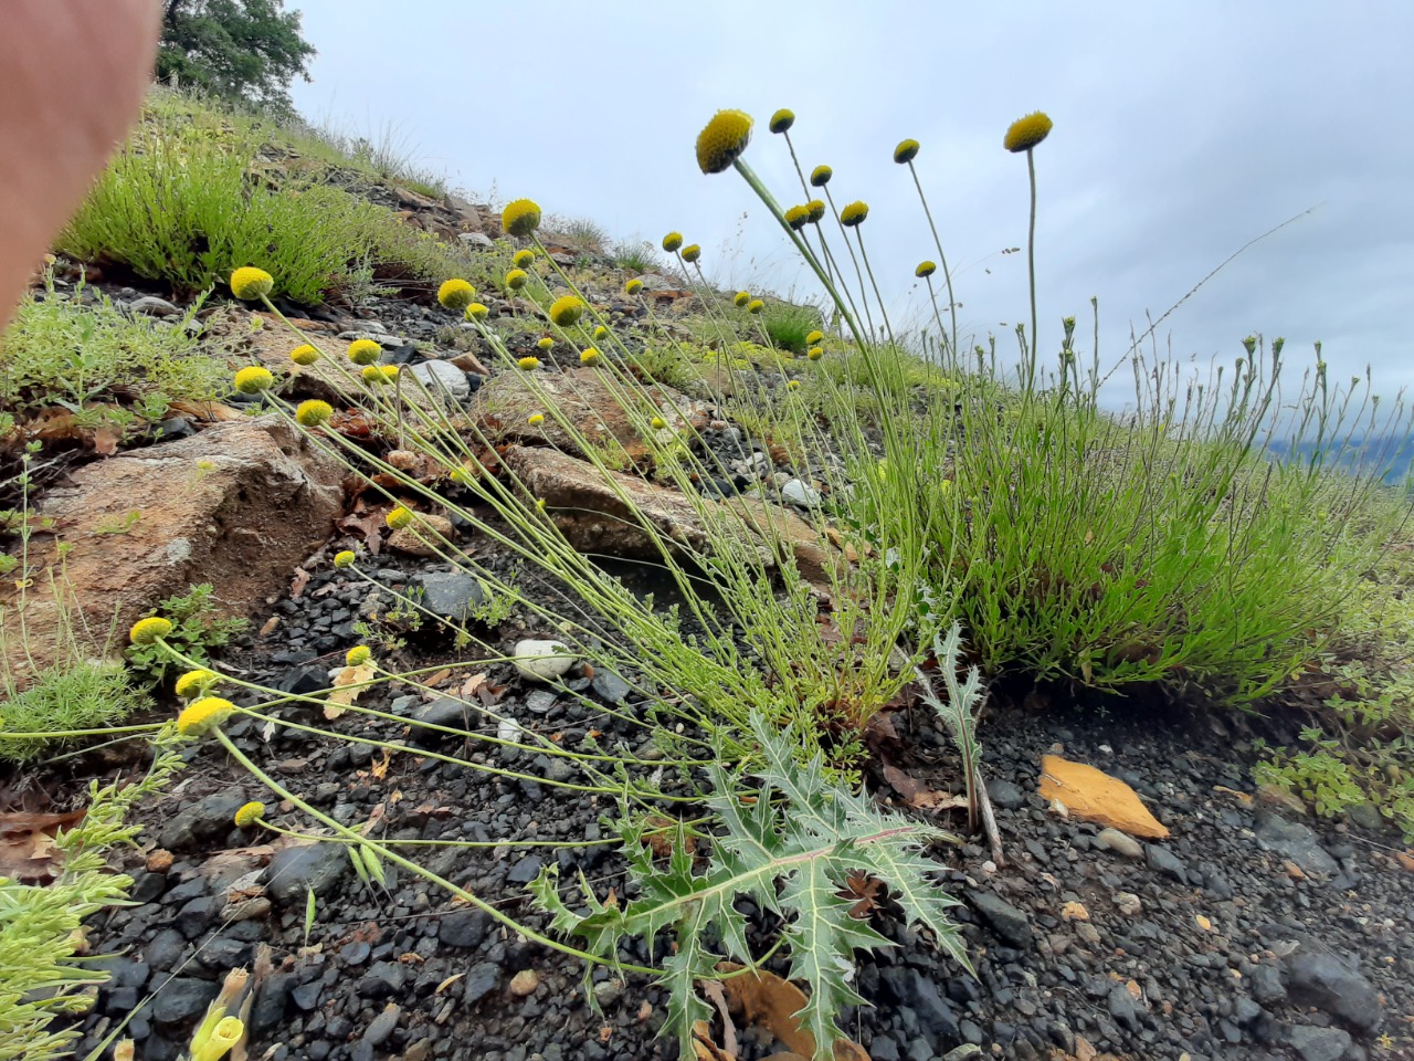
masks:
[[[0,760],[27,763],[64,743],[62,737],[16,734],[115,726],[151,706],[151,699],[133,688],[122,663],[90,659],[49,668],[28,689],[11,689],[0,702]]]

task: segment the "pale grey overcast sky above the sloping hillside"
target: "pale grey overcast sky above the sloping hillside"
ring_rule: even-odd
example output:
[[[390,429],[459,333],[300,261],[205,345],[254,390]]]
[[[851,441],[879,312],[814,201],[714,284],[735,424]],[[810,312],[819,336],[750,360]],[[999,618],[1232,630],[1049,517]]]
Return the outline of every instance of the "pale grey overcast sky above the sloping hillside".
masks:
[[[1025,156],[1001,137],[1035,109],[1042,349],[1075,314],[1102,361],[1250,239],[1159,332],[1225,361],[1249,332],[1284,335],[1291,369],[1324,341],[1332,375],[1372,364],[1414,383],[1414,3],[660,3],[290,0],[318,48],[298,109],[392,133],[454,185],[530,197],[655,243],[704,248],[723,284],[817,293],[734,173],[704,177],[693,143],[718,108],[756,119],[747,158],[800,201],[786,146],[870,204],[865,243],[895,318],[923,310],[913,266],[936,257],[906,167],[916,160],[954,273],[960,323],[1027,310]],[[940,277],[939,277],[940,279]]]

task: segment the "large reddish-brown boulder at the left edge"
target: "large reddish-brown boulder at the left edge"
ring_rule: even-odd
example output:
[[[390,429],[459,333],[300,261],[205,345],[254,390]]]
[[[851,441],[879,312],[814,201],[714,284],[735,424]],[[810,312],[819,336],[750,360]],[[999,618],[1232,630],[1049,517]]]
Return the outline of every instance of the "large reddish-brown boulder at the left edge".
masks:
[[[134,620],[195,583],[212,583],[228,614],[250,613],[329,536],[342,474],[274,416],[79,468],[38,502],[23,644],[14,580],[0,586],[8,665],[23,679],[62,661],[66,608],[82,613],[93,649],[113,630],[115,652]]]

